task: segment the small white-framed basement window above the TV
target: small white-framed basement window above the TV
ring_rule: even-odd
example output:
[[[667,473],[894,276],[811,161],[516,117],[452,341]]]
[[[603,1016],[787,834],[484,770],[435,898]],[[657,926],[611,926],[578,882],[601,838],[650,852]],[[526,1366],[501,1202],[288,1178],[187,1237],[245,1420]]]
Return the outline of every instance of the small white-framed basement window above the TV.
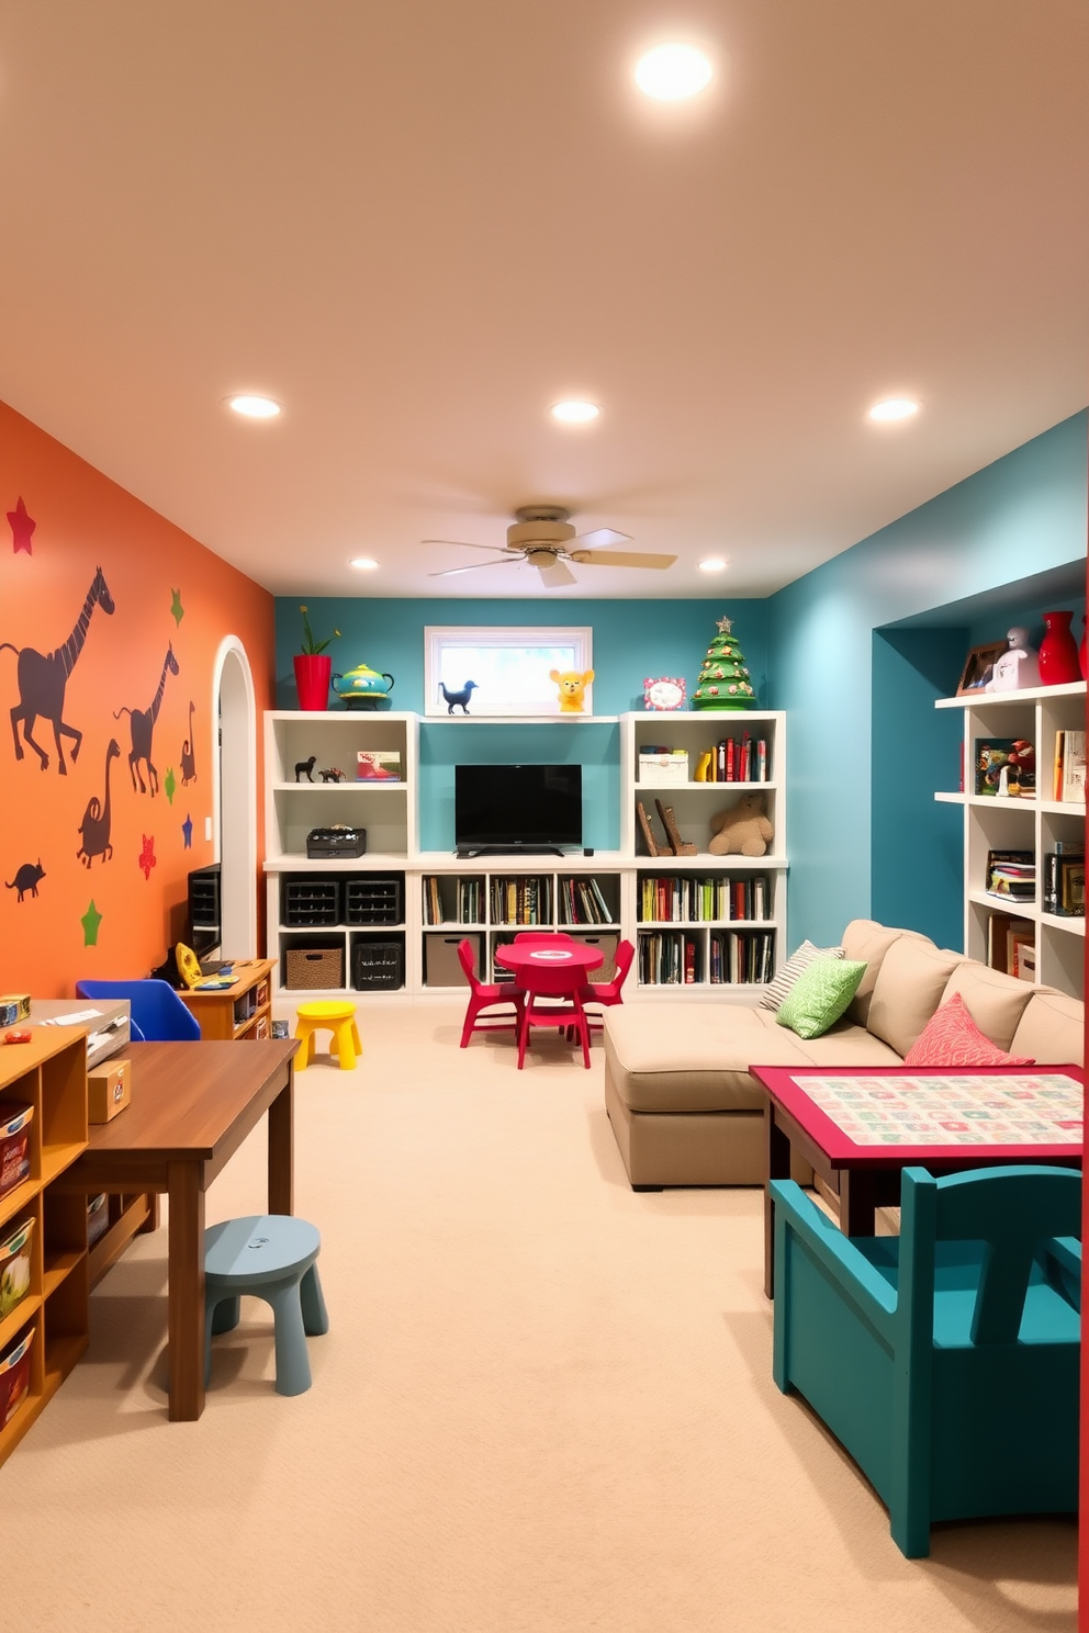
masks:
[[[470,717],[558,715],[560,701],[550,670],[593,668],[594,632],[589,627],[519,629],[504,625],[434,625],[423,632],[424,714]],[[475,684],[469,689],[467,683]],[[446,687],[446,696],[442,692]],[[593,714],[593,686],[585,714]]]

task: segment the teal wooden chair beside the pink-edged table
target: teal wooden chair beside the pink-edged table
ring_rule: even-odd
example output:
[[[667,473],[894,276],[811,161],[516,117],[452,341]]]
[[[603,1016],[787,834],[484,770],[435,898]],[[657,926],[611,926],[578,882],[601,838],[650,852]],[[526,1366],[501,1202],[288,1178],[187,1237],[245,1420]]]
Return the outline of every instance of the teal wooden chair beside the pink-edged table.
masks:
[[[774,1378],[888,1506],[908,1558],[934,1520],[1078,1507],[1081,1174],[903,1172],[900,1236],[846,1238],[776,1200]]]

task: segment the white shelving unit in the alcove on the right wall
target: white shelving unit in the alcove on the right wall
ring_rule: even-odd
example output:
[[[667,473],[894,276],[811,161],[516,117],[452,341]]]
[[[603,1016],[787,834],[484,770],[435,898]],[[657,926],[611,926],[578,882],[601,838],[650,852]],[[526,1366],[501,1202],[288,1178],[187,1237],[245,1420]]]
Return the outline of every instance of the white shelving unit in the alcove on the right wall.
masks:
[[[937,709],[963,712],[963,792],[939,790],[934,799],[963,808],[965,826],[965,952],[988,962],[989,921],[998,913],[1035,926],[1035,980],[1074,998],[1084,994],[1084,918],[1043,910],[1043,859],[1056,843],[1084,844],[1086,807],[1051,799],[1055,733],[1084,732],[1086,683],[1040,686],[1019,692],[978,692],[940,697]],[[986,738],[1025,738],[1035,746],[1035,799],[975,794],[975,745]],[[1037,890],[1030,901],[1007,901],[985,888],[988,851],[1032,851]]]

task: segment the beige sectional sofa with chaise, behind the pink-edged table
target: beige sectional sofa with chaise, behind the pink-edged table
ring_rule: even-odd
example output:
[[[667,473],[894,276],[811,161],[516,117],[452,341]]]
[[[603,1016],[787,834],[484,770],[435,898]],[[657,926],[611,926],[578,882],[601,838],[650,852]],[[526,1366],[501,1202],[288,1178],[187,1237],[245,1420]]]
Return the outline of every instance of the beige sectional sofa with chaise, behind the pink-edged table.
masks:
[[[606,1011],[606,1109],[633,1189],[762,1184],[764,1096],[749,1065],[900,1065],[953,993],[999,1048],[1040,1065],[1082,1060],[1076,998],[873,919],[847,924],[841,946],[846,959],[865,962],[862,985],[842,1021],[808,1042],[756,1004],[678,999]]]

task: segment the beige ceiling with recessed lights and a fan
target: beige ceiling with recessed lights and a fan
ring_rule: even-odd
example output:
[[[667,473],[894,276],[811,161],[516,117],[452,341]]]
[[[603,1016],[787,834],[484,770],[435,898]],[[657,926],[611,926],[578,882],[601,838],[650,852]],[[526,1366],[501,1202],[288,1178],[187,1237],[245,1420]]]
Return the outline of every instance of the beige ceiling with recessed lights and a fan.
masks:
[[[557,599],[762,594],[1084,405],[1087,65],[1082,0],[0,0],[0,397],[276,593],[534,593],[418,541],[552,500],[679,555]]]

